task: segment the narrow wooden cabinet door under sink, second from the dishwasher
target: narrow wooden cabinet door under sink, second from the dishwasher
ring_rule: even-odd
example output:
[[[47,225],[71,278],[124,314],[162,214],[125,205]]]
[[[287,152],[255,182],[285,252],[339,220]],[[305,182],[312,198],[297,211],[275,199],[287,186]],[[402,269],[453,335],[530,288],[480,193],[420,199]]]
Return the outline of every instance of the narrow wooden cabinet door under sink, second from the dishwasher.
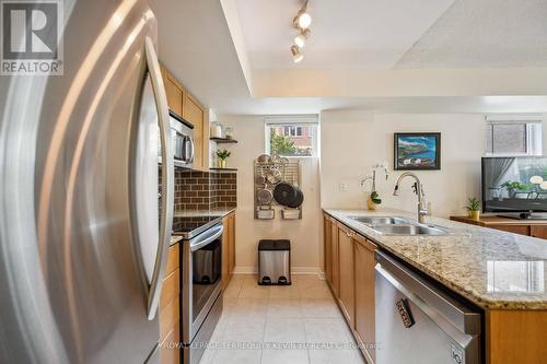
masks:
[[[353,232],[338,226],[338,254],[340,267],[340,297],[338,302],[351,329],[356,327],[356,281],[353,266]]]

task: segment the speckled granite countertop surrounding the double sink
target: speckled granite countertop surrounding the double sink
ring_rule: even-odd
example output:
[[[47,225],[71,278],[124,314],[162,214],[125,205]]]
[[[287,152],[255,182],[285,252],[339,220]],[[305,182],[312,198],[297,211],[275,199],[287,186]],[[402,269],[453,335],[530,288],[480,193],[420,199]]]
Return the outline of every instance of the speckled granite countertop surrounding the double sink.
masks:
[[[447,235],[383,235],[350,216],[416,221],[416,215],[389,209],[324,211],[482,308],[547,309],[547,240],[431,216],[428,224]]]

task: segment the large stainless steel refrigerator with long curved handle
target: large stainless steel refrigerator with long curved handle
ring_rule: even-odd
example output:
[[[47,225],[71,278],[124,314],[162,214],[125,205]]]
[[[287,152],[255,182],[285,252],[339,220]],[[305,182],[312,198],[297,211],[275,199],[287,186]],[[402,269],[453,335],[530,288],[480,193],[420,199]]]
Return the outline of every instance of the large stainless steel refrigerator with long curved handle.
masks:
[[[61,3],[63,74],[0,77],[0,363],[155,363],[174,184],[155,17]]]

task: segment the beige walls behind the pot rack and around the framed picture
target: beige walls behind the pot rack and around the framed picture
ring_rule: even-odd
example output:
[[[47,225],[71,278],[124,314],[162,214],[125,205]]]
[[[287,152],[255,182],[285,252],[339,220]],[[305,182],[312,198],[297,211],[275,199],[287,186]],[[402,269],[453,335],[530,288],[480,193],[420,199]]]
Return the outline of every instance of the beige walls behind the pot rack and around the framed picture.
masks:
[[[545,119],[546,116],[544,116]],[[295,272],[315,272],[322,261],[321,207],[364,209],[365,192],[359,180],[370,167],[387,161],[389,178],[380,174],[377,189],[384,207],[415,211],[416,196],[409,180],[398,197],[393,196],[393,133],[440,131],[441,171],[417,172],[435,215],[463,214],[467,197],[480,197],[480,157],[485,145],[485,116],[479,114],[371,114],[363,110],[323,111],[321,115],[321,168],[317,158],[302,158],[305,201],[303,220],[254,220],[253,161],[264,153],[261,116],[218,116],[234,128],[237,144],[222,144],[232,151],[229,167],[237,167],[236,271],[257,267],[256,247],[260,238],[289,238]],[[214,145],[211,145],[214,150]],[[544,127],[547,151],[547,127]],[[321,169],[321,171],[319,171]],[[347,190],[340,191],[340,184]],[[321,192],[319,192],[321,185]],[[321,195],[321,202],[319,202]]]

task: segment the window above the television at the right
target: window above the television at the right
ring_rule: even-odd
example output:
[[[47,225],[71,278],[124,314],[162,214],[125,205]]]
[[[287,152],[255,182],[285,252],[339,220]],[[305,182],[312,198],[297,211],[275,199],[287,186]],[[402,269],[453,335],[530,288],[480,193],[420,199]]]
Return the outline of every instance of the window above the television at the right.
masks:
[[[487,117],[487,155],[542,155],[542,121],[531,117]]]

